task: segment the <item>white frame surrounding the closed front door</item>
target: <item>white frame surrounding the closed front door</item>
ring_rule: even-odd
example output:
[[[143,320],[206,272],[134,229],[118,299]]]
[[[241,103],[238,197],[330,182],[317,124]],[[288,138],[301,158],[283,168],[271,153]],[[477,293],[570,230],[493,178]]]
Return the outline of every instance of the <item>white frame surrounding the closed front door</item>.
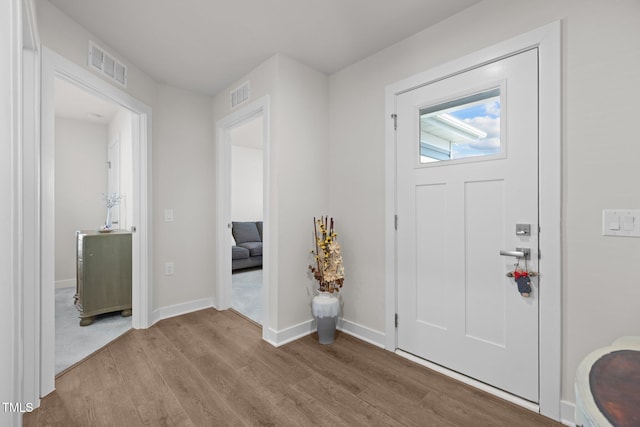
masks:
[[[473,68],[538,49],[539,70],[539,411],[560,419],[562,367],[562,111],[561,22],[556,21],[386,87],[385,113],[385,330],[386,348],[397,350],[396,97]],[[402,118],[399,118],[402,120]],[[402,218],[398,219],[401,223]]]

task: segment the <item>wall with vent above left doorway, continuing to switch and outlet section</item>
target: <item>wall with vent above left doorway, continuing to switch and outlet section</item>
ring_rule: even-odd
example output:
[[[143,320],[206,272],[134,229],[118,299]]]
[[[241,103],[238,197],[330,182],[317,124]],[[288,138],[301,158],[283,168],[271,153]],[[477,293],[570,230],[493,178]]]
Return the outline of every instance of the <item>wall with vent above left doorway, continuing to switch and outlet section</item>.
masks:
[[[37,13],[44,46],[104,78],[87,66],[89,40],[98,43],[128,67],[127,87],[114,86],[153,110],[149,146],[153,156],[150,210],[154,224],[150,237],[155,270],[150,282],[154,306],[150,309],[210,298],[214,276],[211,224],[215,191],[212,98],[158,85],[48,1],[37,3]],[[166,208],[174,209],[174,222],[164,222]],[[209,231],[211,237],[206,238]],[[166,261],[175,263],[174,276],[164,275]]]

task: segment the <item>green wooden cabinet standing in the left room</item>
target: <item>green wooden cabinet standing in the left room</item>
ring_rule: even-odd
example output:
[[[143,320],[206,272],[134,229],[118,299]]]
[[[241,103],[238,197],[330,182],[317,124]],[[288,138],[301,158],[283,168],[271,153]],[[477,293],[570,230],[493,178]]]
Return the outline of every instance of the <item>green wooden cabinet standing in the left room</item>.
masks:
[[[113,311],[131,316],[131,232],[78,231],[76,237],[80,326]]]

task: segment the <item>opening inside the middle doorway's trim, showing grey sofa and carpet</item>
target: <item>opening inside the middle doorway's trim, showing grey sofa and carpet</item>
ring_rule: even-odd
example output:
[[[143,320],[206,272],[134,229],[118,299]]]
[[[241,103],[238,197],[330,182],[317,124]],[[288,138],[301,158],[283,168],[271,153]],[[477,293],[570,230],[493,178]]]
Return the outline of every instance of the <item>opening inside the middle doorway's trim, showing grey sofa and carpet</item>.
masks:
[[[262,325],[263,116],[229,131],[231,146],[231,308]]]

